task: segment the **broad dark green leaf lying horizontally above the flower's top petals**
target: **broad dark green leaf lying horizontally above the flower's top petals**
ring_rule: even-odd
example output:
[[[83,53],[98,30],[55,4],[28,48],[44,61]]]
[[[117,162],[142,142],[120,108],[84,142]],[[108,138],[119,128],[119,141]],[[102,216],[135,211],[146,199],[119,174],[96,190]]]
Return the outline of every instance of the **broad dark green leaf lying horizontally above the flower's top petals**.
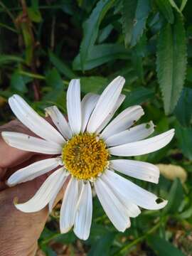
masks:
[[[93,46],[84,64],[84,70],[91,70],[116,59],[129,60],[129,50],[117,43],[105,43],[99,46]],[[75,60],[73,60],[73,69],[81,70],[80,55],[76,56]]]

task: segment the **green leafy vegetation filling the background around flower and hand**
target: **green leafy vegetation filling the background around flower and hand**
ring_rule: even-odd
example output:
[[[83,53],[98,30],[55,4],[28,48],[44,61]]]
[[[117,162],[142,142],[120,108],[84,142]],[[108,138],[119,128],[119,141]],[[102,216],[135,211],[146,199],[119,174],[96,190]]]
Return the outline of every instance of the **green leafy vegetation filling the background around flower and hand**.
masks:
[[[168,198],[164,210],[143,210],[118,233],[94,198],[90,238],[81,241],[60,235],[58,205],[37,255],[192,255],[191,15],[191,0],[0,1],[0,124],[14,118],[14,93],[41,114],[49,105],[65,113],[70,79],[80,78],[83,95],[123,75],[121,109],[142,105],[155,134],[176,129],[169,146],[135,158],[161,164],[159,185],[134,182]]]

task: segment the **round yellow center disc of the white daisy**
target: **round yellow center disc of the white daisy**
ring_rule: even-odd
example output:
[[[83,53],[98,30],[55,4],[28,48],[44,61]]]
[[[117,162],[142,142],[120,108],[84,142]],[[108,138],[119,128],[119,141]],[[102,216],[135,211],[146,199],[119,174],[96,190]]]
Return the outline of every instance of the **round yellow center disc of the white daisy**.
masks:
[[[105,171],[109,153],[105,143],[94,134],[78,134],[70,139],[62,151],[65,168],[75,178],[90,179]]]

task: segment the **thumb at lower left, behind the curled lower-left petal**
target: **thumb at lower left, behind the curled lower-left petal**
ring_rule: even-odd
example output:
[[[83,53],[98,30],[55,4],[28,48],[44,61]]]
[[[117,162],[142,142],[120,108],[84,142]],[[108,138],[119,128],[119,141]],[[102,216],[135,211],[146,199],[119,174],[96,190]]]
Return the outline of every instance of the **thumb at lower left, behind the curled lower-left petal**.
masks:
[[[41,183],[42,181],[40,182],[39,180],[36,180],[36,182],[30,181],[0,193],[0,255],[2,248],[6,247],[6,245],[9,245],[9,253],[7,255],[14,255],[12,254],[14,252],[11,252],[11,248],[14,248],[17,255],[23,255],[23,252],[26,253],[25,255],[31,255],[29,252],[37,244],[37,240],[46,224],[48,208],[43,208],[37,213],[23,213],[16,209],[13,201],[16,196],[19,201],[28,201],[36,193]]]

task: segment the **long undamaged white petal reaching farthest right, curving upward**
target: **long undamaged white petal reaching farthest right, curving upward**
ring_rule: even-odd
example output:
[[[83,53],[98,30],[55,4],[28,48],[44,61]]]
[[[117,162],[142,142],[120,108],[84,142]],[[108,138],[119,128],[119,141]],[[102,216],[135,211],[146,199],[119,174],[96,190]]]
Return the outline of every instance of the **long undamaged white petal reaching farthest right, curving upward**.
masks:
[[[120,146],[113,146],[109,149],[114,156],[139,156],[161,149],[171,142],[174,137],[174,129],[164,132],[155,137],[144,139],[140,142],[131,142]]]

